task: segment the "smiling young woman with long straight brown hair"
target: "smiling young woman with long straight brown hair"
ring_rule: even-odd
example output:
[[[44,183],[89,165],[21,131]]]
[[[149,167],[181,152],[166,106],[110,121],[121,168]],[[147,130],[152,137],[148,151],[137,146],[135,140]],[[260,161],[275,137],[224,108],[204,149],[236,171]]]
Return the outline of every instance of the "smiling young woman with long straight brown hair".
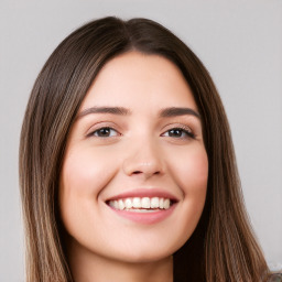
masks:
[[[160,24],[93,21],[32,90],[20,147],[26,281],[270,281],[228,121]]]

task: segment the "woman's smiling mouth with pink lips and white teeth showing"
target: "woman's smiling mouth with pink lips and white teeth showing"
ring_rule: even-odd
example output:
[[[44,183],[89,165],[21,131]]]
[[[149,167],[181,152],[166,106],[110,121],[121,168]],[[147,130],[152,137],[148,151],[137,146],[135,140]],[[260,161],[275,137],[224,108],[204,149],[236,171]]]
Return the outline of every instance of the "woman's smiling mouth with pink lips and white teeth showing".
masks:
[[[155,224],[169,217],[177,204],[170,193],[135,189],[106,200],[117,215],[139,224]]]

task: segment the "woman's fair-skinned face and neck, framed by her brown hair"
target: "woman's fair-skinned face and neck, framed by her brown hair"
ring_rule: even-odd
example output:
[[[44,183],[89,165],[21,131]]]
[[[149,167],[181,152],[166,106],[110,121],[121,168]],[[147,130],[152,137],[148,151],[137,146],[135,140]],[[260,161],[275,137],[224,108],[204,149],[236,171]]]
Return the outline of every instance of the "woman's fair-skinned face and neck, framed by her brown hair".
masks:
[[[199,220],[207,175],[200,118],[178,68],[138,52],[108,62],[78,111],[61,175],[75,281],[172,282],[172,254]]]

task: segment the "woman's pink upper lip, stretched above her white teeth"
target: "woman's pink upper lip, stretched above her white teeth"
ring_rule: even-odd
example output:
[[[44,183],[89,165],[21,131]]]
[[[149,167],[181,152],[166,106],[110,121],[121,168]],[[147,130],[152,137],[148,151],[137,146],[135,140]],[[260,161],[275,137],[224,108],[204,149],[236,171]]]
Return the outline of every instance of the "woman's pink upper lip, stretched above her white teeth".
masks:
[[[172,202],[178,202],[177,197],[167,191],[160,188],[135,188],[132,191],[123,192],[108,198],[106,202],[120,199],[120,198],[133,198],[133,197],[160,197],[170,198]]]

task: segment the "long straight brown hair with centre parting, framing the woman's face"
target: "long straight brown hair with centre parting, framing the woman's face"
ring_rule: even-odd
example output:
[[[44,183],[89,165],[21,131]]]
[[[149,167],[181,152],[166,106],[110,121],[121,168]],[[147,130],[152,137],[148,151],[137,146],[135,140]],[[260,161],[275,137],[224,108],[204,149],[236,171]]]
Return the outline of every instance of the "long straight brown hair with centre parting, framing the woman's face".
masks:
[[[208,155],[207,196],[196,230],[174,253],[174,281],[264,281],[269,270],[251,230],[227,117],[199,58],[148,19],[91,21],[52,53],[34,84],[20,142],[26,281],[69,282],[58,183],[69,130],[87,90],[115,56],[156,54],[182,72],[198,107]]]

